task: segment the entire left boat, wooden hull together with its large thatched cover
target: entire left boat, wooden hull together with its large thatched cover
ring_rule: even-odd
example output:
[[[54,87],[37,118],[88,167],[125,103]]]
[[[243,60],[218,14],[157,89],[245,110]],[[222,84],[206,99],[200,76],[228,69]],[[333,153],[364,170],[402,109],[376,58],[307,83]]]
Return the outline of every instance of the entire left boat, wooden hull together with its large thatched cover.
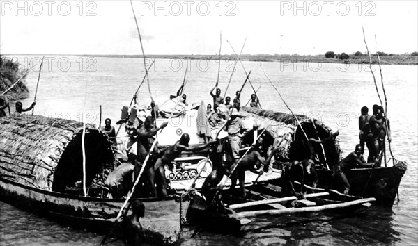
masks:
[[[75,185],[82,180],[81,135],[79,122],[31,115],[2,117],[0,199],[78,229],[108,233],[124,202],[104,198],[100,187],[102,174],[116,165],[114,148],[104,133],[88,126],[88,196],[84,197]],[[180,202],[176,195],[140,200],[146,208],[141,219],[146,242],[176,242],[181,209],[185,212],[188,202]]]

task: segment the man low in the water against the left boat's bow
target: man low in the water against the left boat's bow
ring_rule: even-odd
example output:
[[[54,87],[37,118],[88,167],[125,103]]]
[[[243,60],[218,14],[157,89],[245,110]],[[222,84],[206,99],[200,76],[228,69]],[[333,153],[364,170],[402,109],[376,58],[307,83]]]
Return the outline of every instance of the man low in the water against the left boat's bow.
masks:
[[[144,238],[139,218],[144,217],[145,206],[142,202],[135,200],[132,202],[132,215],[128,215],[122,220],[122,236],[128,245],[141,245]]]

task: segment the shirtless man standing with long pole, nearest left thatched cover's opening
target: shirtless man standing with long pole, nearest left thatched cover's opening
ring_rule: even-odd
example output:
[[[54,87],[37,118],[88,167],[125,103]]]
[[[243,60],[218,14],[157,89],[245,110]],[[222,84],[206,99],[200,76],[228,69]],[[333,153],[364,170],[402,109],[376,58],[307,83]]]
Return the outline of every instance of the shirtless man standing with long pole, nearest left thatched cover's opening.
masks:
[[[144,165],[144,161],[146,156],[148,156],[148,152],[150,151],[150,147],[153,145],[153,136],[157,134],[160,129],[163,129],[167,126],[167,122],[161,124],[160,127],[154,126],[154,119],[151,116],[147,116],[145,118],[144,126],[139,129],[137,133],[137,158],[135,160],[135,168],[134,168],[134,180],[137,179],[139,172],[141,171],[142,165]],[[153,149],[153,154],[158,153],[157,145],[155,145]],[[148,181],[148,188],[150,191],[150,197],[157,197],[157,190],[155,188],[155,172],[154,169],[151,168],[153,166],[153,160],[150,156],[148,162],[146,163],[146,167],[144,169],[145,172],[145,179]]]

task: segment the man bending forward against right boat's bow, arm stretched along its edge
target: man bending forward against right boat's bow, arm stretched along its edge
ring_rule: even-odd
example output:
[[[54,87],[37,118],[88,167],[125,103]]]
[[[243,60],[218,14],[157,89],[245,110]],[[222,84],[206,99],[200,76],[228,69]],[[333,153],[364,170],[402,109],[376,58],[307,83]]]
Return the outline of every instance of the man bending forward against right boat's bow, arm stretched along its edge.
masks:
[[[332,174],[337,177],[344,186],[344,194],[348,194],[350,191],[350,183],[346,177],[346,173],[355,167],[375,167],[376,163],[366,163],[363,158],[364,149],[361,145],[356,145],[355,150],[348,154],[346,158],[343,158],[337,165],[334,165]]]

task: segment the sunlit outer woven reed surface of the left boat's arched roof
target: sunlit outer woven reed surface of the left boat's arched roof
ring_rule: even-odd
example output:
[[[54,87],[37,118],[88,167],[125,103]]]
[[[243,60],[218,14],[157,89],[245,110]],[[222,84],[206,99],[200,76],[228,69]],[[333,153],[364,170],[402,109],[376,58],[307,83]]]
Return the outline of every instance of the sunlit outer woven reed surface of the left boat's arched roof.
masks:
[[[61,156],[81,130],[82,123],[71,120],[24,114],[0,118],[0,174],[51,190]]]

